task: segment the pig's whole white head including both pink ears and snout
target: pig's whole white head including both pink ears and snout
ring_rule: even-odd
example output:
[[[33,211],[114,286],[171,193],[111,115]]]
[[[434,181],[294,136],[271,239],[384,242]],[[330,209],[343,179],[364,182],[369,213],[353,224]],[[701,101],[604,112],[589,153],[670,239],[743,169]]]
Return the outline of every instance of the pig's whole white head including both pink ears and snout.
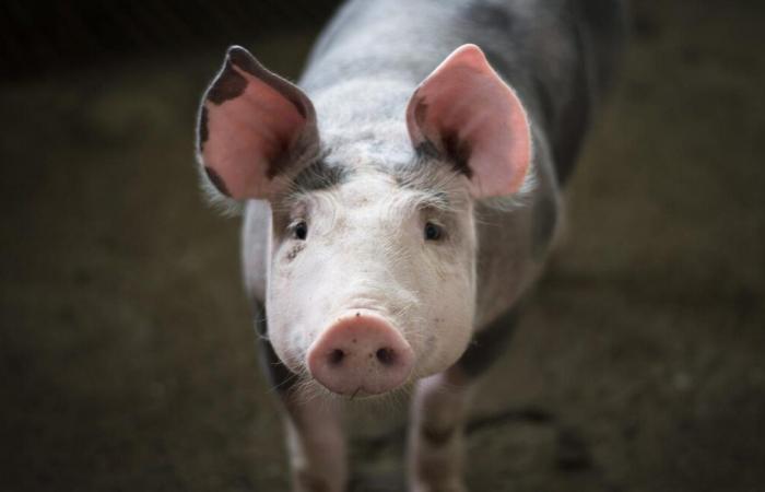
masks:
[[[473,331],[475,201],[527,177],[526,113],[478,47],[408,91],[395,120],[352,116],[320,138],[308,96],[233,47],[199,114],[205,183],[270,206],[276,354],[340,395],[386,394],[460,358]]]

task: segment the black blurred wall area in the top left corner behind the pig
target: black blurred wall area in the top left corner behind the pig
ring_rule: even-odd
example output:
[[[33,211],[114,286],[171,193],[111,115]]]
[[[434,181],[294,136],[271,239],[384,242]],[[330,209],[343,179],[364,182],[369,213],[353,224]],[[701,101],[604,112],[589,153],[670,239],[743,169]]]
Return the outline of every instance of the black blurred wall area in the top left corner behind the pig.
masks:
[[[338,0],[26,2],[0,5],[4,78],[157,58],[318,28]]]

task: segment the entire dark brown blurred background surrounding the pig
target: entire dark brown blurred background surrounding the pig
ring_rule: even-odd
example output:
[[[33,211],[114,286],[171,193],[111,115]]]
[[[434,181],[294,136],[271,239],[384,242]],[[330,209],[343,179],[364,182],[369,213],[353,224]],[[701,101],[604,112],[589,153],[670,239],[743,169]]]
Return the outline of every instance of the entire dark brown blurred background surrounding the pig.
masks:
[[[294,80],[336,8],[0,5],[0,490],[287,490],[195,113],[226,46]],[[765,491],[765,4],[632,10],[566,238],[475,402],[473,491]],[[401,490],[398,413],[354,418],[354,490]]]

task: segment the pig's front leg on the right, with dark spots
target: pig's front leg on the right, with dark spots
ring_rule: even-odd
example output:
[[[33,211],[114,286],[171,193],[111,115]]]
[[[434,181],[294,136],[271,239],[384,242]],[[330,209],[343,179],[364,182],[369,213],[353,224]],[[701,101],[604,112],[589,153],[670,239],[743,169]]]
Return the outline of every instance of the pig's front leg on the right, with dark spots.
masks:
[[[467,490],[462,443],[470,396],[476,378],[504,352],[516,323],[511,309],[476,333],[455,365],[419,383],[409,433],[412,492]]]

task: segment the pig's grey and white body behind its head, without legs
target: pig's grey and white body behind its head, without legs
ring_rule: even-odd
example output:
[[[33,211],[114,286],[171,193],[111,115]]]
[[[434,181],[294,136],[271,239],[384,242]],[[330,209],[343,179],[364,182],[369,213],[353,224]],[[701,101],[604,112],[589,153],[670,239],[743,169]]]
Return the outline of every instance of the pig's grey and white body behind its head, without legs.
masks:
[[[413,149],[401,117],[407,103],[466,43],[483,49],[523,102],[533,136],[533,188],[522,199],[526,207],[476,210],[476,331],[515,305],[544,259],[560,223],[561,183],[621,46],[621,16],[620,2],[611,0],[356,0],[343,7],[311,54],[299,85],[321,115],[319,133],[345,154],[338,165],[364,165],[358,155],[379,167],[410,163]],[[260,303],[269,221],[267,202],[248,203],[245,276]]]

